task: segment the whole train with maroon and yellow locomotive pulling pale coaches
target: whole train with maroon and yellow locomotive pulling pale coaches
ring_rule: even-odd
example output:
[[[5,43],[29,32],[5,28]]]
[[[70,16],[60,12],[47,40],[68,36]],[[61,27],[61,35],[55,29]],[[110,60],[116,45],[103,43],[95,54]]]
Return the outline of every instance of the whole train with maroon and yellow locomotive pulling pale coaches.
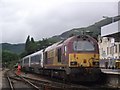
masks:
[[[80,82],[100,79],[99,48],[89,35],[59,41],[20,60],[25,71]]]

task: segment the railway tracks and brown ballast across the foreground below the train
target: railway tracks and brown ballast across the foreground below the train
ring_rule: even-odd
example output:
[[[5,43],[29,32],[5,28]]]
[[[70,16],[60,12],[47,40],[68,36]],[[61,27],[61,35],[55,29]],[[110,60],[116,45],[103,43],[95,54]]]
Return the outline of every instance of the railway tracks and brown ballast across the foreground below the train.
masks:
[[[37,79],[26,77],[24,75],[16,75],[12,73],[12,71],[7,72],[7,79],[10,85],[11,90],[16,90],[17,82],[21,88],[29,88],[29,90],[105,90],[110,89],[113,90],[114,88],[109,88],[104,85],[79,85],[73,83],[66,83],[66,82],[57,82],[54,80],[48,80],[45,78]],[[22,84],[21,84],[22,83]]]

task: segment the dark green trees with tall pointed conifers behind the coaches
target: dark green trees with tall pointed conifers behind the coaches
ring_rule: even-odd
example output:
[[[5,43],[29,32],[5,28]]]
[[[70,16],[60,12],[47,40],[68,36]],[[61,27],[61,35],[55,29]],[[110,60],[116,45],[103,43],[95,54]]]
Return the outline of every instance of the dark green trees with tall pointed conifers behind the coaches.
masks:
[[[47,39],[47,38],[43,38],[42,40],[35,42],[33,37],[31,37],[31,39],[30,39],[30,36],[28,36],[26,39],[26,43],[25,43],[25,51],[20,54],[20,57],[22,58],[26,55],[29,55],[36,51],[44,49],[44,48],[52,45],[55,42],[56,41]]]

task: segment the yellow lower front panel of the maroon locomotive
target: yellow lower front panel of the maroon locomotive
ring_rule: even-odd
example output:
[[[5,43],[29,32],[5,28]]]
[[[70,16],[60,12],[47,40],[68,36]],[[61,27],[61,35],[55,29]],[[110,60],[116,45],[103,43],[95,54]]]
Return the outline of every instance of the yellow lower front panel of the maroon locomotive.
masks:
[[[94,58],[94,60],[93,60]],[[96,61],[94,54],[80,54],[80,53],[71,53],[69,54],[69,66],[71,67],[92,67],[98,66],[98,60]]]

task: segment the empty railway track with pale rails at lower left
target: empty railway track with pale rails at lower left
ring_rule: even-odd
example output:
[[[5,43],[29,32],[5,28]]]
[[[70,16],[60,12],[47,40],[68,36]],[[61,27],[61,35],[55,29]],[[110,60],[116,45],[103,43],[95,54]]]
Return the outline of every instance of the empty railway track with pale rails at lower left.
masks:
[[[29,89],[29,90],[41,90],[38,86],[30,82],[29,80],[16,75],[14,72],[7,71],[6,78],[9,83],[10,90],[20,89]]]

